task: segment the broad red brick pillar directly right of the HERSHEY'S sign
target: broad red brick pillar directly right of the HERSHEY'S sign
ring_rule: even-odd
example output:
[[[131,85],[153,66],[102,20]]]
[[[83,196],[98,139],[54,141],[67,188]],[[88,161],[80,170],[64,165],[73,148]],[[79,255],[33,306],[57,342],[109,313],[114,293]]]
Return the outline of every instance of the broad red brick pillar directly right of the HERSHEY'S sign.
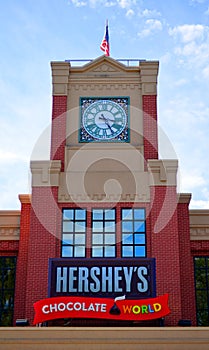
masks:
[[[165,324],[177,326],[182,315],[176,188],[151,188],[151,200],[151,256],[156,258],[157,295],[169,294],[171,313]]]

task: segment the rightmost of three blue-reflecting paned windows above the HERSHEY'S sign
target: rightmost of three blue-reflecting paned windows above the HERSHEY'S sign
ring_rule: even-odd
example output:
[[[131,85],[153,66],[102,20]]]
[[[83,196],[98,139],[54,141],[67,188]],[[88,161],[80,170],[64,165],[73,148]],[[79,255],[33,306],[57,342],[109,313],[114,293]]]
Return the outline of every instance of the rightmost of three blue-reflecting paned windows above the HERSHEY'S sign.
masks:
[[[146,257],[145,209],[122,209],[122,257]]]

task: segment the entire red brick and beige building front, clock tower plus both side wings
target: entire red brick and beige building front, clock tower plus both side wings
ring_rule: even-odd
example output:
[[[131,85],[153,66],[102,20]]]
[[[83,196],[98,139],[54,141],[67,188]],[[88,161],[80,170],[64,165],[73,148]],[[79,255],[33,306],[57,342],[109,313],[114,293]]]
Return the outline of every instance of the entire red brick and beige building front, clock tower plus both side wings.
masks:
[[[2,326],[32,325],[46,298],[123,294],[168,295],[166,326],[209,325],[209,211],[189,210],[178,162],[159,159],[159,63],[128,63],[51,63],[50,160],[31,162],[21,210],[0,212]],[[48,324],[127,325],[80,316]]]

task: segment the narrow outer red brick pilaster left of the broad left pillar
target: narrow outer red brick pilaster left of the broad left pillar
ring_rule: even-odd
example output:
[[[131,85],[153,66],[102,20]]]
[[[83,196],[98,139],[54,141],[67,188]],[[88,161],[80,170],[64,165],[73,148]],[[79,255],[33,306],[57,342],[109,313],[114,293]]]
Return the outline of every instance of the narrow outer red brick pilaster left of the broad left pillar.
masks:
[[[21,204],[20,241],[16,267],[14,324],[16,319],[25,318],[26,276],[28,266],[28,241],[31,204]]]

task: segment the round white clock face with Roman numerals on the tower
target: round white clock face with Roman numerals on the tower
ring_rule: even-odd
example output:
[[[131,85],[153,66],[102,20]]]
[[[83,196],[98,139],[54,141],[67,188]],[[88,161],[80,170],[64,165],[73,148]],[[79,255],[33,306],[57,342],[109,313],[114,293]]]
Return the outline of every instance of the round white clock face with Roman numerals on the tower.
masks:
[[[91,140],[121,140],[127,129],[127,113],[110,99],[96,100],[84,110],[82,123]]]

